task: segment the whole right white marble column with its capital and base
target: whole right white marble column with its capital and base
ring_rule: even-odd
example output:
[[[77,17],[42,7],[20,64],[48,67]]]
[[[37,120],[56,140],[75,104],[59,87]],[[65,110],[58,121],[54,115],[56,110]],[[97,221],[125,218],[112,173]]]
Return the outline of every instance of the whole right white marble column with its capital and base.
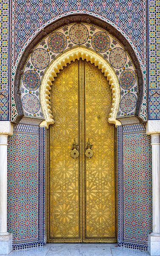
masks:
[[[160,120],[149,120],[146,133],[152,145],[152,233],[149,234],[150,255],[160,255]]]

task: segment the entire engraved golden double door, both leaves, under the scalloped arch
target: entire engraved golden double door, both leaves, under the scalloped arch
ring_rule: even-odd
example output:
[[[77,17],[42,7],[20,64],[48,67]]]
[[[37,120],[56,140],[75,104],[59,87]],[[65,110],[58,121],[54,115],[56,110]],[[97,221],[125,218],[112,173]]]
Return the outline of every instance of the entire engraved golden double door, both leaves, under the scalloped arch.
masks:
[[[117,241],[115,128],[108,123],[111,102],[107,78],[90,62],[72,62],[53,82],[48,242]],[[74,140],[77,145],[72,147]],[[79,152],[76,158],[71,155],[73,148]]]

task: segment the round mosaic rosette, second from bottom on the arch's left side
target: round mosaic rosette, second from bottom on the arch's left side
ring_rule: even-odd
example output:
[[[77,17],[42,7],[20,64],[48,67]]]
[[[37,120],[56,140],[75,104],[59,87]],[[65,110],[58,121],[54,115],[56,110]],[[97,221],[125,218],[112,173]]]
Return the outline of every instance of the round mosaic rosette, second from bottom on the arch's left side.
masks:
[[[36,90],[40,85],[39,75],[34,70],[26,71],[22,81],[28,90]]]

